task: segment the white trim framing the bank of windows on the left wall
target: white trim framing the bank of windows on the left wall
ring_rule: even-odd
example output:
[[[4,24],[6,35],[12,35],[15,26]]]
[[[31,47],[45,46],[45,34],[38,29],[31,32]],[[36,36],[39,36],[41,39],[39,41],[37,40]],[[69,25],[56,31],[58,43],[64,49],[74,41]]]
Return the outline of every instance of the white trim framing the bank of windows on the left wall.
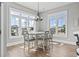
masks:
[[[13,9],[13,10],[15,10],[15,11],[17,11],[18,9],[15,9],[15,8],[9,8],[9,27],[8,27],[8,30],[9,30],[9,38],[20,38],[20,37],[22,37],[22,34],[21,34],[21,31],[19,31],[19,36],[11,36],[11,15],[13,15],[13,14],[10,14],[10,10],[11,9]],[[24,14],[28,14],[28,13],[26,13],[26,12],[24,12],[24,11],[22,11],[22,10],[18,10],[18,12],[21,12],[21,13],[24,13]],[[16,16],[16,17],[18,17],[19,18],[19,20],[20,20],[20,23],[19,23],[19,27],[20,27],[20,29],[19,30],[21,30],[21,19],[22,18],[24,18],[24,19],[27,19],[28,18],[28,21],[29,21],[29,16],[35,16],[35,15],[32,15],[32,14],[28,14],[28,17],[26,18],[26,17],[23,17],[23,16],[21,16],[21,14],[20,15],[13,15],[13,16]],[[29,24],[28,24],[29,25]],[[35,26],[34,26],[34,28],[35,28],[35,30],[36,30],[36,23],[34,24]],[[35,31],[34,30],[34,31]]]

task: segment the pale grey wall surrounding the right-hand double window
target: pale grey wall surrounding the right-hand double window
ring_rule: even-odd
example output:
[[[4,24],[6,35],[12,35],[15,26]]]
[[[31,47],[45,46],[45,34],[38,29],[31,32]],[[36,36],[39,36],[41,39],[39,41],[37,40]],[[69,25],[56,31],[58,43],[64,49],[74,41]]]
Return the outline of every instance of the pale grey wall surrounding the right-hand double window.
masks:
[[[41,16],[44,17],[44,20],[40,22],[40,29],[45,31],[48,30],[49,28],[49,19],[48,19],[48,14],[55,13],[55,12],[60,12],[67,10],[67,37],[55,37],[54,40],[59,40],[59,41],[67,41],[67,42],[76,42],[76,38],[73,36],[74,31],[79,31],[79,3],[72,3],[69,5],[65,5],[59,8],[55,8],[52,10],[49,10],[47,12],[41,13]],[[72,44],[73,44],[72,43]]]

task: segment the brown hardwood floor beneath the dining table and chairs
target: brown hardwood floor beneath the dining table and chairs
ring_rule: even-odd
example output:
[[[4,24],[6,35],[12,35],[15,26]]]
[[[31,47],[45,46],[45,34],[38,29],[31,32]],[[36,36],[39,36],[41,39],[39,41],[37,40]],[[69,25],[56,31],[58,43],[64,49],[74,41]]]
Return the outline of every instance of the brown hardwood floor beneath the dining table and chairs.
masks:
[[[23,44],[7,47],[8,57],[76,57],[76,46],[70,44],[63,44],[55,42],[52,44],[50,50],[47,51],[34,51],[30,50],[28,53],[27,49],[24,52]]]

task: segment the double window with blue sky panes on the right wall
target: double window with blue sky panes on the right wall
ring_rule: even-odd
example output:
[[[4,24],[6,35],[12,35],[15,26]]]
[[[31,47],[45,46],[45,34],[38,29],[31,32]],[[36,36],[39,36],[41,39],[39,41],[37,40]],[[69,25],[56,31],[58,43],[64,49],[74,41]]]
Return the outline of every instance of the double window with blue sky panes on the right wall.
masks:
[[[67,11],[51,14],[49,17],[50,30],[54,32],[54,35],[67,34]]]

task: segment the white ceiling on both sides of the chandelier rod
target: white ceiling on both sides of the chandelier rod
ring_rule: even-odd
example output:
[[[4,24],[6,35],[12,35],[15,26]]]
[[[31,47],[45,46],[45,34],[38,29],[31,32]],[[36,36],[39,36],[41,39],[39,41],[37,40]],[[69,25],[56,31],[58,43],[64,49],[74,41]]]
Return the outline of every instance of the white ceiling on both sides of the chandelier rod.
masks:
[[[17,3],[27,8],[38,11],[38,2],[17,2]],[[39,2],[39,12],[48,11],[70,3],[72,2]]]

